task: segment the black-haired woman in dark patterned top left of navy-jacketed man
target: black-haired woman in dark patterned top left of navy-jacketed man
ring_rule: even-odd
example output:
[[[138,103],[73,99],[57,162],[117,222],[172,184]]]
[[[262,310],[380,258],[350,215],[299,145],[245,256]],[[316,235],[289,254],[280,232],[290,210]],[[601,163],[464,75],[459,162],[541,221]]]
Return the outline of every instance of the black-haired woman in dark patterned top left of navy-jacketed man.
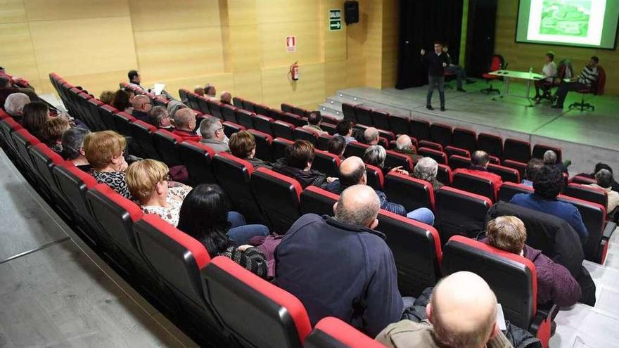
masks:
[[[210,257],[228,257],[257,276],[267,278],[267,260],[260,250],[247,245],[246,240],[251,238],[250,234],[268,236],[269,229],[262,225],[235,227],[231,225],[229,209],[228,196],[219,186],[199,185],[183,201],[178,228],[202,243]],[[235,233],[245,233],[245,236],[235,241]]]

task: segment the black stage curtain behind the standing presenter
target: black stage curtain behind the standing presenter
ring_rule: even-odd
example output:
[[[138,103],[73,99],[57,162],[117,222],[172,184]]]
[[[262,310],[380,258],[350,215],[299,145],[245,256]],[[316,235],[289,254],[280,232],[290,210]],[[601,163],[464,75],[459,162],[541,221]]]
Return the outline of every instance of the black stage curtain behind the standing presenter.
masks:
[[[454,64],[460,55],[462,0],[400,0],[400,54],[395,88],[428,83],[419,51],[433,51],[434,41],[449,44]]]

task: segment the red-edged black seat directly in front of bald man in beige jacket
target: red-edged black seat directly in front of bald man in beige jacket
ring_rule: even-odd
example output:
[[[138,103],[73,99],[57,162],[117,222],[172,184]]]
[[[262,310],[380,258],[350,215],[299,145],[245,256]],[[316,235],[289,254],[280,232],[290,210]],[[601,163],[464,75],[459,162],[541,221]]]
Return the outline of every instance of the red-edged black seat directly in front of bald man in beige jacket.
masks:
[[[497,296],[505,320],[528,330],[548,347],[551,318],[558,308],[537,306],[537,272],[530,260],[476,240],[454,236],[443,248],[445,275],[471,271],[483,278]]]

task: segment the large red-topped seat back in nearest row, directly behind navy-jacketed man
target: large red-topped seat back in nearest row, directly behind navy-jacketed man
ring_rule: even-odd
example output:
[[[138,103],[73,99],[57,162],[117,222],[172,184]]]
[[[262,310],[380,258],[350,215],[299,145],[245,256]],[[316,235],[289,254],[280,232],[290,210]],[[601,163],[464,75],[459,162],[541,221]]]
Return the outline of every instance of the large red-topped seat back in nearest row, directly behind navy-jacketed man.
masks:
[[[303,347],[312,326],[299,299],[227,257],[212,259],[202,277],[208,301],[241,347]]]

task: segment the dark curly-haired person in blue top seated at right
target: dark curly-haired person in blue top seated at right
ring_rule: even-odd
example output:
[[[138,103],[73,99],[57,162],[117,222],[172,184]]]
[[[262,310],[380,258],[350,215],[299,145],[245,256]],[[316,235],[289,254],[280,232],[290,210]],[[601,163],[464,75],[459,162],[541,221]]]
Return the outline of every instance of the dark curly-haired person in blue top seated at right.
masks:
[[[582,222],[580,212],[570,203],[556,199],[556,196],[563,190],[563,175],[559,169],[550,166],[542,167],[533,181],[533,189],[535,193],[518,193],[509,202],[567,221],[584,244],[589,237],[589,232]]]

